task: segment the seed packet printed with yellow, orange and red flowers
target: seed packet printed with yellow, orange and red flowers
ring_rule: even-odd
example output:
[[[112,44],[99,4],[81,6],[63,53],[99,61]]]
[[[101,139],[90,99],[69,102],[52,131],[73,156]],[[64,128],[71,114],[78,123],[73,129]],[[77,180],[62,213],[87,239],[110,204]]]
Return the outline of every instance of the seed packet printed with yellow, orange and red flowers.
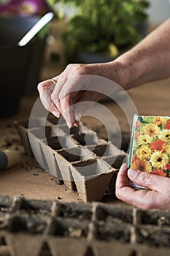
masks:
[[[170,177],[170,117],[134,115],[128,167]],[[130,181],[135,189],[146,189]]]

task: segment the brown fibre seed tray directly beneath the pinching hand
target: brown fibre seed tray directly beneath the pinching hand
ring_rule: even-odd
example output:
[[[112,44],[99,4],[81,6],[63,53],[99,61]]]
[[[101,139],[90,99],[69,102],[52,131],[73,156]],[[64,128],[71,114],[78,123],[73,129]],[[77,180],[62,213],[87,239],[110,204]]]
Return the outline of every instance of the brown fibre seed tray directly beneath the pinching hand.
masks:
[[[128,154],[111,142],[98,138],[85,124],[69,129],[64,121],[48,117],[15,122],[29,156],[85,201],[101,200],[109,187],[114,195],[115,179]],[[44,124],[44,123],[43,123]]]

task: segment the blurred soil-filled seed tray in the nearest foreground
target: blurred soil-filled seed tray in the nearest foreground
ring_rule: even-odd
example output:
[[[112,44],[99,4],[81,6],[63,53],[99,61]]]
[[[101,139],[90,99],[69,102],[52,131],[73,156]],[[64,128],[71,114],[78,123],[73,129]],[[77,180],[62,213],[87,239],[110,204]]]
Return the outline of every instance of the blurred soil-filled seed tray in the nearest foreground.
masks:
[[[169,224],[169,211],[144,211],[119,201],[108,205],[0,196],[0,246],[8,255],[167,256]]]

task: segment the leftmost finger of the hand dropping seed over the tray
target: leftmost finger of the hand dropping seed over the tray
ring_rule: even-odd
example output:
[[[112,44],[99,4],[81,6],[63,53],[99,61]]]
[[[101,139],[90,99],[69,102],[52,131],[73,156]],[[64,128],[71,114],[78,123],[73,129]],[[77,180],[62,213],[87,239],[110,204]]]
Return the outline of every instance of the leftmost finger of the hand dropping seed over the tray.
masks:
[[[58,108],[54,105],[51,94],[53,93],[55,85],[51,79],[45,80],[38,85],[39,97],[42,101],[44,107],[51,113],[55,113],[55,116],[59,117],[60,112]]]

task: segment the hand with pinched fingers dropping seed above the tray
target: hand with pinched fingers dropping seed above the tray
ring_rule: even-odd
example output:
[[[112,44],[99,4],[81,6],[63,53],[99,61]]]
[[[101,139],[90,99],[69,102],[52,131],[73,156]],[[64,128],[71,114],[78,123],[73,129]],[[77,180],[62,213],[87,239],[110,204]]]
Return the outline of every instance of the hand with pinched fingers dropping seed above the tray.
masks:
[[[82,114],[94,102],[104,99],[120,87],[116,84],[120,82],[120,67],[121,64],[116,61],[106,64],[69,64],[60,75],[53,78],[56,83],[51,79],[39,83],[42,104],[54,116],[59,118],[63,115],[69,127],[78,126]]]

